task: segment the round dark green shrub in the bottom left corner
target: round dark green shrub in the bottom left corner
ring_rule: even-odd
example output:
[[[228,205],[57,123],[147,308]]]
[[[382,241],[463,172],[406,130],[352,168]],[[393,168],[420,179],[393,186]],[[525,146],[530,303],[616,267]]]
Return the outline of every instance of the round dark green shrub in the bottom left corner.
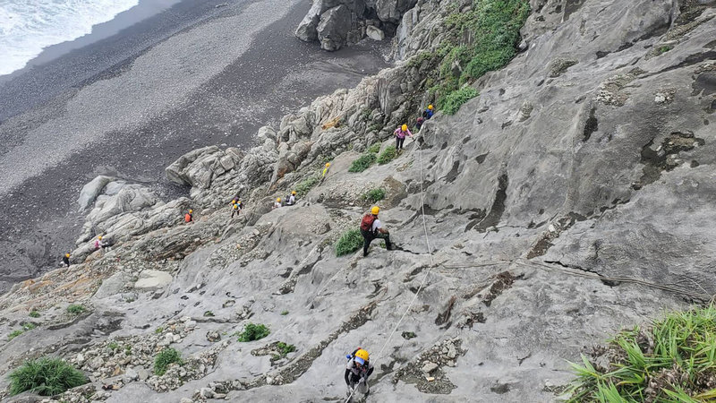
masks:
[[[65,390],[87,383],[83,373],[59,358],[39,358],[25,361],[10,373],[10,394],[30,390],[40,396],[56,396]]]

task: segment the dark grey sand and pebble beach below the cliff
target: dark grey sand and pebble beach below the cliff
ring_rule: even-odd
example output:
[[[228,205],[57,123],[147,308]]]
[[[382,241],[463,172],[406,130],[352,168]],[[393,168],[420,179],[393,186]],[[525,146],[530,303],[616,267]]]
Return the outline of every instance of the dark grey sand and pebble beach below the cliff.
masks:
[[[0,80],[0,290],[72,249],[94,176],[174,197],[186,190],[164,168],[184,152],[250,147],[261,125],[384,66],[386,47],[329,54],[295,39],[310,5],[182,1]]]

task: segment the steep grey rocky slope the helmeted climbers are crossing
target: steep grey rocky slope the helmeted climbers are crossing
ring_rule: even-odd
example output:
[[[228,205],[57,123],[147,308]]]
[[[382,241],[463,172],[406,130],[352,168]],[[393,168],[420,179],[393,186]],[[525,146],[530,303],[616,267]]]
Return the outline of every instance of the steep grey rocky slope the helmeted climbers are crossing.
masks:
[[[245,153],[178,159],[167,176],[191,198],[87,187],[82,263],[0,298],[0,372],[63,356],[93,382],[69,401],[339,401],[361,346],[369,400],[550,401],[582,347],[716,293],[712,1],[533,0],[524,51],[473,83],[478,98],[439,112],[397,159],[348,172],[431,100],[421,52],[471,4],[406,5],[396,67],[261,129]],[[298,206],[270,210],[296,187]],[[403,250],[337,257],[377,187]],[[229,219],[235,193],[247,209]],[[86,249],[99,234],[115,242],[104,255]],[[238,342],[248,322],[270,335]],[[277,355],[279,341],[296,351]],[[166,346],[185,363],[152,375]]]

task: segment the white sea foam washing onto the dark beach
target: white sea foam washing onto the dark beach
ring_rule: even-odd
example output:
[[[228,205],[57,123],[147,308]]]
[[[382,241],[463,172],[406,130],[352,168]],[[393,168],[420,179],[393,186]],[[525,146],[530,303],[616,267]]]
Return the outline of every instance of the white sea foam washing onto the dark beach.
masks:
[[[42,49],[80,38],[139,0],[0,0],[0,75],[24,67]]]

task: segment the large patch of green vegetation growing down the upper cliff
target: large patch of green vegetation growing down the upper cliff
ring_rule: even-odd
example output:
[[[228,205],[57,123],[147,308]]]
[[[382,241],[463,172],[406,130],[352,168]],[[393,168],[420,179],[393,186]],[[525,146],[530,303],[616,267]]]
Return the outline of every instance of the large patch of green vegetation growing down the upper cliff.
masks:
[[[410,61],[414,66],[425,62],[435,66],[435,73],[427,81],[440,109],[448,106],[446,113],[454,114],[477,93],[453,92],[484,73],[502,68],[516,55],[519,30],[529,13],[527,0],[473,0],[471,11],[456,10],[447,16],[448,37],[438,50],[432,54],[423,52]],[[464,44],[465,38],[472,39],[469,45]],[[460,68],[456,69],[456,64]],[[471,97],[465,99],[467,95]]]

